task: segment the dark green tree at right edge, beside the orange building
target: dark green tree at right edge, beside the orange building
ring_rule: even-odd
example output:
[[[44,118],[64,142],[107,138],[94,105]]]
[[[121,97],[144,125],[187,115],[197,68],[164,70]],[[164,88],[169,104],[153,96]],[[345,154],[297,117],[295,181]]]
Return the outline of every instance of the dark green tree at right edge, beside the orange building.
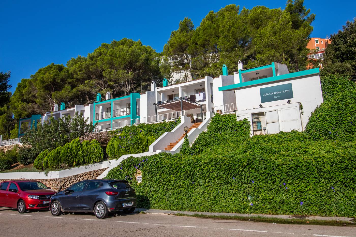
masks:
[[[339,74],[356,78],[356,18],[330,37],[325,49],[322,74]]]

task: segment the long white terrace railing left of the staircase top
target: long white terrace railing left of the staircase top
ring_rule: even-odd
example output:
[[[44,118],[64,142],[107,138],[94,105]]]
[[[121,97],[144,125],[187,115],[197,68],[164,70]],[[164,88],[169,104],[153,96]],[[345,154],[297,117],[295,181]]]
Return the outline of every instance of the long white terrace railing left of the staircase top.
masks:
[[[138,125],[140,123],[156,123],[162,121],[176,120],[180,118],[180,116],[184,116],[185,114],[186,112],[183,110],[183,111],[171,112],[167,114],[158,114],[158,115],[153,115],[153,116],[148,116],[143,118],[134,118],[130,120],[104,123],[96,127],[96,132],[115,130],[120,127]]]

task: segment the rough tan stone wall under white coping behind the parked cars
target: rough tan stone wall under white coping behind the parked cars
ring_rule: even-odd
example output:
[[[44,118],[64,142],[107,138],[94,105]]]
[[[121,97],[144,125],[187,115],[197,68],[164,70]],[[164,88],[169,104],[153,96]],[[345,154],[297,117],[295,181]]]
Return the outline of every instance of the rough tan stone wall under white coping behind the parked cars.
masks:
[[[58,179],[37,179],[38,181],[41,181],[43,184],[45,184],[48,188],[51,188],[55,191],[61,191],[66,188],[68,188],[70,185],[77,183],[78,181],[81,180],[87,180],[87,179],[96,179],[98,176],[104,172],[106,168],[104,169],[97,169],[89,172],[85,172],[82,174],[77,174],[77,175],[72,175],[69,177],[65,178],[58,178]],[[2,179],[1,181],[5,181],[6,179]]]

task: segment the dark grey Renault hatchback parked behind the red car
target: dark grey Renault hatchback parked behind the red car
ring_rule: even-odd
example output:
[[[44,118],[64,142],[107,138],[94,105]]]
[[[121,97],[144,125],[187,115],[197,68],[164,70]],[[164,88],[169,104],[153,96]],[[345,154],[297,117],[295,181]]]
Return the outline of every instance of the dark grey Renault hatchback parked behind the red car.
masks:
[[[62,212],[92,212],[105,218],[109,212],[119,210],[131,213],[136,207],[135,189],[126,180],[91,179],[73,184],[54,194],[49,201],[53,216]]]

